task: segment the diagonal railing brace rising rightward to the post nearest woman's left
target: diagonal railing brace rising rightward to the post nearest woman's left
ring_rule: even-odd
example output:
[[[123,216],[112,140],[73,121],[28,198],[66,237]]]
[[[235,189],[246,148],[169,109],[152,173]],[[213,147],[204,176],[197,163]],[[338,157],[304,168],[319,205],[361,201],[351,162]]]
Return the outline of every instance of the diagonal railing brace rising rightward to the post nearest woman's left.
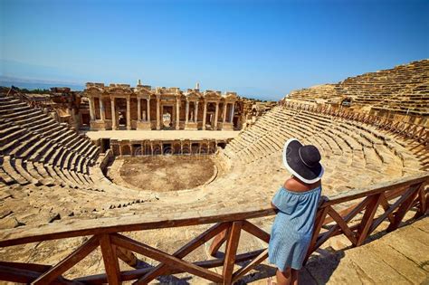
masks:
[[[210,227],[204,233],[199,234],[195,239],[186,243],[185,246],[181,247],[178,251],[173,253],[173,256],[179,259],[183,259],[187,254],[193,252],[196,248],[208,242],[216,234],[221,233],[228,227],[229,223],[216,223],[214,226]],[[151,280],[154,280],[160,275],[163,275],[167,272],[167,266],[164,263],[158,264],[153,270],[149,271],[145,276],[137,280],[134,284],[147,284]]]

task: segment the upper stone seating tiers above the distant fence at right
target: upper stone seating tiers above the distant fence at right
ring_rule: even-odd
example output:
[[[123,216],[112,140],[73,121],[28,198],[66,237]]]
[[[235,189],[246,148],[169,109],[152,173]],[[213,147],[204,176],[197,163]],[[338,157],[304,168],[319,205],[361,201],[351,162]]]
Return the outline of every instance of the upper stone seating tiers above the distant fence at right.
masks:
[[[337,84],[291,91],[290,100],[342,100],[351,98],[353,106],[369,106],[373,110],[428,116],[429,60],[398,65],[393,69],[368,72],[349,77]]]

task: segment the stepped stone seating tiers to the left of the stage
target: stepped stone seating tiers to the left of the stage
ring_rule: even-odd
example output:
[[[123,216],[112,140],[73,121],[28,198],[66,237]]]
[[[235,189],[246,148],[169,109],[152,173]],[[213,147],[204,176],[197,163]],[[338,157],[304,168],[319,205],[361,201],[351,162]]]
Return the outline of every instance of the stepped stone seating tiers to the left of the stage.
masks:
[[[99,148],[42,109],[0,95],[0,184],[97,189],[90,169]]]

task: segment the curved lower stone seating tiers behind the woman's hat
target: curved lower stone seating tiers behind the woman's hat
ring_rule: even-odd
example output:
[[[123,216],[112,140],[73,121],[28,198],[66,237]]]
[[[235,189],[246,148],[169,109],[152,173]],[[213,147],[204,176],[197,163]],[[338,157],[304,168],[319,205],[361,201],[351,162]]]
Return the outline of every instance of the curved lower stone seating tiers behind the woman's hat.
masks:
[[[258,173],[266,176],[271,166],[281,169],[278,157],[289,138],[319,147],[328,170],[324,179],[327,191],[359,186],[363,176],[367,182],[375,183],[386,179],[386,175],[407,176],[423,168],[422,161],[409,150],[421,144],[407,142],[405,147],[400,139],[367,124],[282,107],[272,109],[228,144],[224,156],[234,164],[242,164],[253,177]]]

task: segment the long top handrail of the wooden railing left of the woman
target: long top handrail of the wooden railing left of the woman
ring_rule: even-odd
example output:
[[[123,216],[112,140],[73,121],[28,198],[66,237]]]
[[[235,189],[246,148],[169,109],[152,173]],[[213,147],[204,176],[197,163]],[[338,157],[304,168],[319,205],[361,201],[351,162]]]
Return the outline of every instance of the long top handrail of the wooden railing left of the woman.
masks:
[[[83,235],[121,233],[160,228],[180,227],[205,223],[224,223],[274,215],[267,203],[243,209],[223,208],[193,213],[165,213],[101,218],[92,220],[64,221],[38,227],[18,227],[0,232],[0,247],[29,242],[42,242]]]

